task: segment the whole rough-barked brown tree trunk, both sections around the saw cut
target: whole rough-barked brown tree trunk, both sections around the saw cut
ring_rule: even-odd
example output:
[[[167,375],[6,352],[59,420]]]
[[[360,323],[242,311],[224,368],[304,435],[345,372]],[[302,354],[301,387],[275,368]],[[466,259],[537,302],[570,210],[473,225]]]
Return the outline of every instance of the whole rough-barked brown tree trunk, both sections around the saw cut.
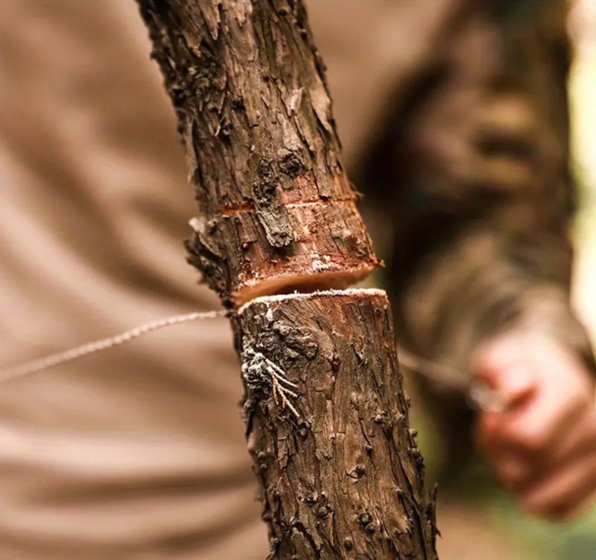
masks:
[[[389,305],[301,0],[137,0],[199,203],[190,261],[232,312],[272,558],[435,559]]]

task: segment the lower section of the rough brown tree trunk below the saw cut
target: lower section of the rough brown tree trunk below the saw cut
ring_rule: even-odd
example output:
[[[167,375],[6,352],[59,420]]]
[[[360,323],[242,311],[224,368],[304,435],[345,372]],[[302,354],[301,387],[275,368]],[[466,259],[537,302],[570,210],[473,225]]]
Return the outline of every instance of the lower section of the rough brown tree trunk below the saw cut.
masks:
[[[272,558],[436,558],[386,294],[261,297],[236,326]]]

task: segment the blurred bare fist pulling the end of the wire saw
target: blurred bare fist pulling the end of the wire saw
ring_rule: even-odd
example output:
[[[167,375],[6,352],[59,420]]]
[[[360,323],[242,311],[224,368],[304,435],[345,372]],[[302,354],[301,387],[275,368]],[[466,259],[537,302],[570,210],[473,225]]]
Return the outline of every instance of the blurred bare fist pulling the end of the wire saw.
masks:
[[[474,374],[504,400],[480,412],[477,443],[521,508],[564,520],[596,492],[596,406],[591,375],[545,335],[509,334],[483,347]]]

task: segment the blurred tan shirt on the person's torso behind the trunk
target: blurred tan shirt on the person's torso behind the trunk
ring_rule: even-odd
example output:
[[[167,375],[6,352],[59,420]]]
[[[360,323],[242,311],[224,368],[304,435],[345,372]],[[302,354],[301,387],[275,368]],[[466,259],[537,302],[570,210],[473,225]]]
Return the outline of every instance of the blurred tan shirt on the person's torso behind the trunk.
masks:
[[[455,45],[449,52],[461,62],[455,89],[468,92],[474,72],[485,76],[472,55],[494,46],[491,38],[501,32],[470,8],[483,5],[311,1],[346,163],[365,171],[361,188],[379,179],[372,165],[385,170],[377,186],[408,192],[398,188],[405,179],[395,163],[409,152],[402,138],[384,131],[395,114],[423,114],[417,88],[446,44]],[[461,43],[445,43],[453,36]],[[1,364],[218,305],[184,262],[193,194],[149,51],[132,0],[0,2]],[[425,148],[415,152],[421,163],[437,145],[452,146],[439,161],[448,170],[467,169],[455,150],[467,136],[443,125],[469,124],[458,115],[476,94],[454,96],[451,112],[430,111],[434,120],[423,119],[418,135],[408,136],[416,141],[408,145]],[[439,99],[433,107],[444,105]],[[447,136],[436,137],[438,129]],[[375,163],[370,151],[379,139],[399,150]],[[566,144],[561,153],[564,160]],[[367,158],[368,167],[361,165]],[[427,177],[418,173],[423,164],[414,169],[415,177]],[[445,174],[432,169],[440,170],[432,181]],[[449,175],[455,184],[458,177]],[[452,200],[450,194],[439,203]],[[399,213],[393,196],[385,200],[393,222],[420,220],[409,207]],[[458,215],[458,223],[467,217]],[[387,231],[379,237],[392,241]],[[395,253],[408,287],[417,269],[400,260],[408,248],[402,239],[408,238],[387,253]],[[457,262],[457,244],[449,248],[442,256]],[[481,259],[479,267],[490,264]],[[566,282],[557,282],[557,298],[565,300]],[[406,326],[431,340],[433,313],[424,306],[436,309],[438,288],[424,278],[418,285],[414,299],[399,299],[395,290],[398,312],[420,306],[418,315],[429,321]],[[439,303],[448,292],[440,292]],[[563,309],[567,316],[565,303]],[[430,353],[424,344],[413,346]],[[218,319],[0,385],[0,558],[265,558],[265,526],[237,409],[238,370],[228,325]]]

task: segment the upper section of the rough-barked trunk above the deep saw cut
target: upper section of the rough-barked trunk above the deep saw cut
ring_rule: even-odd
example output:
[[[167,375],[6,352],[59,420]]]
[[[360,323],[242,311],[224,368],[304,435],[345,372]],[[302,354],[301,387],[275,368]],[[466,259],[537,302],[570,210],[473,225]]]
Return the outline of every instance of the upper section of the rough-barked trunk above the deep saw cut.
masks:
[[[190,262],[235,303],[378,265],[302,2],[139,0],[200,217]]]

